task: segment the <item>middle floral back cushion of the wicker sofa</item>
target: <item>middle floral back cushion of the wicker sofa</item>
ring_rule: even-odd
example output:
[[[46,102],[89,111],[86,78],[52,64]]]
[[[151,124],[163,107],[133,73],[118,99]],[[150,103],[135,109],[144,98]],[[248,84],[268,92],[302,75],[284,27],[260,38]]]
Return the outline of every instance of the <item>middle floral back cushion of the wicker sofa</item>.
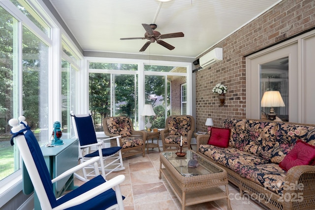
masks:
[[[248,121],[248,138],[245,140],[244,151],[270,160],[275,142],[279,135],[277,122]]]

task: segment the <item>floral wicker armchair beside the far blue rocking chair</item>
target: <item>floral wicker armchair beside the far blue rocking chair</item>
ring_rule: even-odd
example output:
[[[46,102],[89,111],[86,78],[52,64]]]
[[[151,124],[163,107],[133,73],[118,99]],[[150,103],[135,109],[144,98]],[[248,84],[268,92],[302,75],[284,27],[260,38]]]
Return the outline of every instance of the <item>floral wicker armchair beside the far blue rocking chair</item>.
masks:
[[[103,119],[105,135],[109,137],[122,136],[120,146],[123,148],[122,155],[129,157],[135,154],[145,154],[145,142],[147,133],[135,131],[132,122],[128,117],[108,117]],[[111,141],[111,147],[117,146],[116,141]]]

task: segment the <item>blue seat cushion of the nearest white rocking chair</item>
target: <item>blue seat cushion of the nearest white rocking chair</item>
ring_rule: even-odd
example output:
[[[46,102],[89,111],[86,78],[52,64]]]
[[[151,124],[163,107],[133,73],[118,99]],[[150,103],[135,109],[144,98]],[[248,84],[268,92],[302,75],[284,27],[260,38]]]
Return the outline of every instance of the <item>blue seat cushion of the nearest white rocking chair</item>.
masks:
[[[104,182],[105,182],[104,178],[101,175],[98,175],[94,179],[89,180],[80,187],[76,188],[75,190],[72,190],[68,194],[65,194],[63,197],[58,199],[57,200],[58,205],[61,205],[64,202],[72,198],[75,198]],[[124,196],[123,199],[125,199]],[[104,210],[115,204],[117,204],[115,191],[113,189],[109,189],[83,204],[68,208],[66,210]]]

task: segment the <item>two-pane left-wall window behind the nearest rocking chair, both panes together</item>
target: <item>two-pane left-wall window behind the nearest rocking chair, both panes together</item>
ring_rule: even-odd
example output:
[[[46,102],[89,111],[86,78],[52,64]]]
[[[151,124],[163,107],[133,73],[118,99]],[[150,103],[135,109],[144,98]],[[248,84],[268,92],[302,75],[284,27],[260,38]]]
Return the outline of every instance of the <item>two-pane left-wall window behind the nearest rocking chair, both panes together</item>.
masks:
[[[24,115],[41,143],[48,141],[48,46],[0,7],[0,180],[20,169],[7,121]],[[22,37],[22,42],[20,42]],[[20,44],[21,43],[21,44]],[[21,48],[21,46],[23,46]],[[22,52],[20,51],[22,49]],[[22,53],[22,60],[20,59]]]

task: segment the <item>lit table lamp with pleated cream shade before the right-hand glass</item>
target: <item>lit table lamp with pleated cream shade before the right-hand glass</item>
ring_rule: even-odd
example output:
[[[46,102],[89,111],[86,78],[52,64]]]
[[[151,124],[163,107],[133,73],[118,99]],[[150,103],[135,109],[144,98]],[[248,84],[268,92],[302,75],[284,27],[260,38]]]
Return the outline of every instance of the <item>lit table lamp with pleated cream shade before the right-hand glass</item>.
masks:
[[[268,115],[269,120],[275,120],[277,113],[275,113],[274,107],[284,107],[284,100],[279,91],[266,91],[262,96],[261,107],[270,107],[270,113]]]

